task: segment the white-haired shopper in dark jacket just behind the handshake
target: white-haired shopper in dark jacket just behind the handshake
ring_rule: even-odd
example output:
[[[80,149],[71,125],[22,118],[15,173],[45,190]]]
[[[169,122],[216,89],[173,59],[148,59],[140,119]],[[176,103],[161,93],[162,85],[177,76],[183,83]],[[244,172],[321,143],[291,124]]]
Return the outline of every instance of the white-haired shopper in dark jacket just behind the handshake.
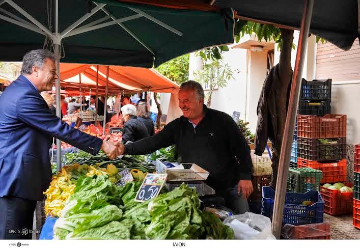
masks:
[[[144,137],[149,136],[148,129],[140,118],[137,118],[136,116],[136,107],[134,105],[126,104],[121,108],[121,112],[123,113],[123,119],[125,122],[122,140],[124,144],[128,141],[139,141]]]

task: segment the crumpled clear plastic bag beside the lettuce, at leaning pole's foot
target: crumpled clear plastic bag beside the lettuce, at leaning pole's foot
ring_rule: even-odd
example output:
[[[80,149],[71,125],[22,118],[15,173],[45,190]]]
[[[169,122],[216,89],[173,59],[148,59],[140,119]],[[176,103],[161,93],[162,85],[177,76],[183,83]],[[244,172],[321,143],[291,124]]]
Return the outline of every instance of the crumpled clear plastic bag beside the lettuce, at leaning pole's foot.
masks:
[[[276,239],[271,234],[270,218],[251,212],[232,215],[224,220],[231,227],[235,239]]]

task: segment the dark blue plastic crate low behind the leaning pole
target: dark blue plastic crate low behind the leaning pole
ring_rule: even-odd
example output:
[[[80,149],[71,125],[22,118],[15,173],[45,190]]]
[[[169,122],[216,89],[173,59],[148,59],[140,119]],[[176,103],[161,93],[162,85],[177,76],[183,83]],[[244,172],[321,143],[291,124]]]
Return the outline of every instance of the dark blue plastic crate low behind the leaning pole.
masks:
[[[262,187],[261,214],[272,219],[275,191],[270,187]],[[303,201],[314,202],[311,206],[301,205]],[[317,190],[306,193],[290,193],[285,195],[283,225],[307,225],[322,223],[324,219],[324,202]]]

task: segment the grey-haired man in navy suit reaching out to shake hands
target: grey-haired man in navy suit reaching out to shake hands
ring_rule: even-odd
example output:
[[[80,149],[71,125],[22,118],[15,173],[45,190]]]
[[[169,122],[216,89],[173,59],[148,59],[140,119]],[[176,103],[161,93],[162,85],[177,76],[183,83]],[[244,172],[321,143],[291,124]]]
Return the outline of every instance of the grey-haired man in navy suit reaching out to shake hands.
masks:
[[[36,202],[51,180],[50,136],[110,159],[119,144],[102,141],[70,127],[51,114],[40,92],[58,79],[54,54],[25,54],[21,75],[0,96],[0,239],[31,239]]]

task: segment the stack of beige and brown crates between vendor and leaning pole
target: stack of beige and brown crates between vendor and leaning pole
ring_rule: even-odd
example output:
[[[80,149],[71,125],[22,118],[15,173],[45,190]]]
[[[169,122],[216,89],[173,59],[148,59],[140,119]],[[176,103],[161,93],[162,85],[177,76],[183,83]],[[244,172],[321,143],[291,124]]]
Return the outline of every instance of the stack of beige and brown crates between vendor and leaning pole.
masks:
[[[257,156],[253,153],[251,154],[253,162],[253,193],[248,197],[248,204],[250,211],[253,213],[260,214],[261,211],[261,188],[263,186],[269,186],[271,181],[271,158],[269,154],[263,154],[262,156]]]

